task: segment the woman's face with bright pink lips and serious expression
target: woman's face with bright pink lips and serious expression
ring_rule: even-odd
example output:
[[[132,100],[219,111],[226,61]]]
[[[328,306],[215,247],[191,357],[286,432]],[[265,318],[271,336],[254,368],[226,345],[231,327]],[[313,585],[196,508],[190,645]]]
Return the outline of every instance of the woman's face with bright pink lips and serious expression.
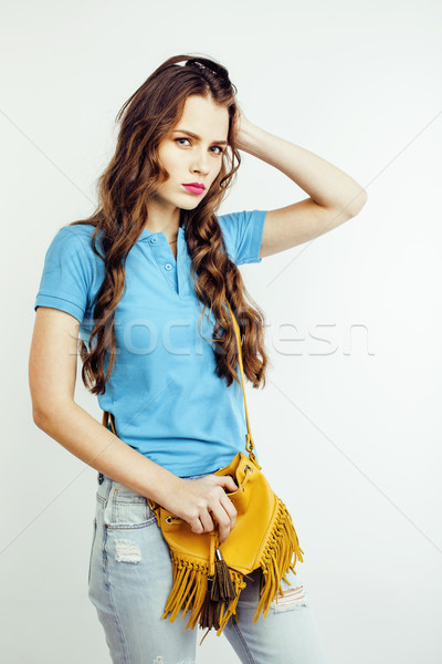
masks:
[[[196,208],[221,169],[228,132],[225,106],[220,106],[211,97],[189,96],[181,120],[159,144],[159,159],[169,179],[158,187],[156,201],[170,207],[171,211]],[[192,193],[183,186],[192,183],[202,184],[206,188]]]

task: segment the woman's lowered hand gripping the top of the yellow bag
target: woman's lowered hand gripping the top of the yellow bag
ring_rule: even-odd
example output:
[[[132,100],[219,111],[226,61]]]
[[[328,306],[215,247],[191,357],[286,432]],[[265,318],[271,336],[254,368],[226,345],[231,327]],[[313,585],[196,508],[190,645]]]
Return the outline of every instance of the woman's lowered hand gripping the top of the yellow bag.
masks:
[[[236,509],[228,491],[236,491],[238,486],[230,475],[206,475],[199,479],[175,478],[164,507],[189,523],[192,532],[201,535],[219,527],[222,543],[236,522]]]

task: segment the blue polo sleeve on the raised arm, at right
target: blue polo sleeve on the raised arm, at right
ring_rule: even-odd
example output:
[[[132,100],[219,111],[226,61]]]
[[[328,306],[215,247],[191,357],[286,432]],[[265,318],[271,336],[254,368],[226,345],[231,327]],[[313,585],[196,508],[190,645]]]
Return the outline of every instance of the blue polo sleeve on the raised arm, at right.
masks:
[[[261,262],[260,249],[267,210],[243,210],[218,217],[230,260],[235,264]]]

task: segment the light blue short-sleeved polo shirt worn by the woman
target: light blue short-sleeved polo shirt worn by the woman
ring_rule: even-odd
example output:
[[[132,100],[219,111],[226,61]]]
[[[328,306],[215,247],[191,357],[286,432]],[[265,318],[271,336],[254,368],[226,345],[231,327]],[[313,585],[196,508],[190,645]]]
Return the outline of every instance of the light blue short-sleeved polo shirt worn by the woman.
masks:
[[[261,262],[266,210],[218,216],[229,258]],[[80,321],[88,349],[93,300],[104,263],[91,247],[90,224],[62,227],[45,255],[38,307],[60,309]],[[97,248],[103,255],[101,242]],[[245,450],[241,385],[214,373],[214,315],[198,300],[185,228],[177,258],[164,232],[144,229],[126,259],[126,288],[115,310],[116,357],[98,405],[115,417],[127,445],[175,475],[217,470]],[[106,354],[105,371],[108,366]],[[238,375],[240,369],[236,366]],[[253,429],[252,429],[253,435]]]

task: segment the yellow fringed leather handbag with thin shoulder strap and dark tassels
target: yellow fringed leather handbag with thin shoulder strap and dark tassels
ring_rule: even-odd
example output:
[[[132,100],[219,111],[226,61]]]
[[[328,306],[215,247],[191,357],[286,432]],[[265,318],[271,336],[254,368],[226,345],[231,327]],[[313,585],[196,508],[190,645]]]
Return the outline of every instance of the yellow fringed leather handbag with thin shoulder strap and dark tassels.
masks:
[[[148,499],[169,548],[173,570],[173,584],[162,618],[175,621],[182,609],[182,618],[190,611],[187,627],[212,627],[220,635],[229,620],[238,619],[236,604],[245,588],[243,577],[261,568],[260,613],[267,615],[277,591],[283,593],[281,580],[288,570],[295,571],[296,561],[303,562],[304,551],[293,526],[292,517],[284,502],[272,491],[261,466],[253,454],[254,443],[250,432],[245,401],[244,371],[241,352],[241,333],[228,303],[236,335],[242,391],[244,396],[248,434],[245,449],[239,452],[229,466],[214,475],[231,475],[235,491],[227,491],[236,509],[236,522],[222,544],[218,530],[197,535],[189,523]],[[104,412],[103,424],[107,426],[108,413]],[[110,425],[116,435],[110,417]],[[207,635],[207,634],[206,634]]]

